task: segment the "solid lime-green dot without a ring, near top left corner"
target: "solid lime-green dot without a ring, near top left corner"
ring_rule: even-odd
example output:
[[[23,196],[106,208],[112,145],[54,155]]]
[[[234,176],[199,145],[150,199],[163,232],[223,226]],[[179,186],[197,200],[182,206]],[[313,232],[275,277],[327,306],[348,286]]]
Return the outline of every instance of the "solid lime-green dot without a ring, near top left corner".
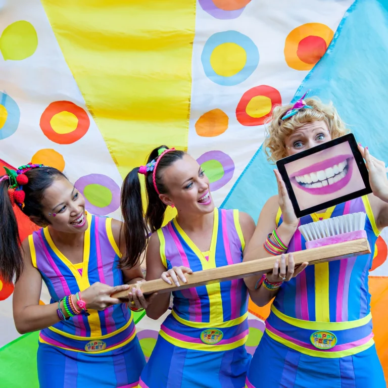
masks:
[[[21,61],[31,57],[37,46],[38,36],[35,28],[25,20],[10,24],[0,38],[0,51],[6,61]]]

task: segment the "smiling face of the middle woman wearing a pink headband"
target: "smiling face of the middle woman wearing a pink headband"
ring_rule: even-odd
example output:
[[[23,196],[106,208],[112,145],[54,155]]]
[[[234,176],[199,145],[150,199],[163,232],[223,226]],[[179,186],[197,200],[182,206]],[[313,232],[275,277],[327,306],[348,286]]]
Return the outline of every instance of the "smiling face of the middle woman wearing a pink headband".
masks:
[[[214,210],[209,178],[191,156],[185,154],[163,170],[163,183],[168,193],[160,199],[174,205],[178,213],[208,214]]]

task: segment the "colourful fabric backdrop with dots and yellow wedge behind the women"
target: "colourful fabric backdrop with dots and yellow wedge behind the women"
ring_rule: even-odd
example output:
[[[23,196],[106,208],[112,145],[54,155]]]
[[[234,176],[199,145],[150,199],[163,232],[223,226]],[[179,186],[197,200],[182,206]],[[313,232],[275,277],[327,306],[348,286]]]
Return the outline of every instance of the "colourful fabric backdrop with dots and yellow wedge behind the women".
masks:
[[[0,158],[64,171],[93,214],[120,219],[122,179],[167,144],[201,163],[217,206],[257,219],[276,192],[264,122],[306,88],[332,100],[357,139],[388,162],[383,0],[0,4]],[[383,232],[369,284],[388,373],[386,240]],[[0,281],[0,387],[34,387],[37,333],[16,332],[12,291]],[[250,353],[267,314],[250,304]],[[149,357],[161,320],[136,319]]]

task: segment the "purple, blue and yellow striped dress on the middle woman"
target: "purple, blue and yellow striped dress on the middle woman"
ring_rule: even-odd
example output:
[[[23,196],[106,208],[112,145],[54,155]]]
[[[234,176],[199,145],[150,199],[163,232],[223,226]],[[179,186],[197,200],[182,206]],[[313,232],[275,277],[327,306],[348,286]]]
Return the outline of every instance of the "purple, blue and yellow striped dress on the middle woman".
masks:
[[[201,252],[174,219],[158,230],[164,266],[201,271],[240,263],[244,237],[237,210],[214,210],[209,252]],[[173,293],[151,357],[141,373],[141,388],[243,388],[251,356],[248,292],[243,279]]]

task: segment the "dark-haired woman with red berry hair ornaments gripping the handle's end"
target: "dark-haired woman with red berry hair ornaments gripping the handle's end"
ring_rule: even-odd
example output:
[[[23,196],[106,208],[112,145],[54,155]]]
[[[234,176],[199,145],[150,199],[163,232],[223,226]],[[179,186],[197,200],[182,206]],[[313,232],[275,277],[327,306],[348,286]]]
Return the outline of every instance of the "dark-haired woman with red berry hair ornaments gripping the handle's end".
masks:
[[[119,268],[126,255],[122,223],[87,214],[81,193],[55,168],[28,164],[6,171],[0,177],[0,273],[16,278],[17,330],[40,330],[40,388],[137,386],[145,359],[133,316],[111,297],[143,280],[139,265]],[[14,206],[42,227],[21,247]],[[52,298],[43,306],[42,279]],[[142,308],[150,302],[136,301]]]

